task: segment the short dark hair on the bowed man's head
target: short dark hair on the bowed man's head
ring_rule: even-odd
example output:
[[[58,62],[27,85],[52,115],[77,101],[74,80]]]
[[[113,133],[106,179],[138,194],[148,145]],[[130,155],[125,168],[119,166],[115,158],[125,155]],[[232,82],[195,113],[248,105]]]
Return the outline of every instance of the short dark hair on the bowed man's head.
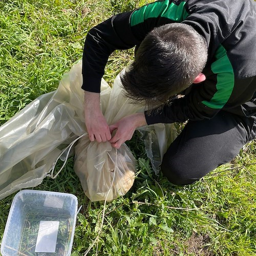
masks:
[[[126,96],[149,108],[166,103],[193,83],[207,60],[206,40],[186,24],[154,28],[121,76]]]

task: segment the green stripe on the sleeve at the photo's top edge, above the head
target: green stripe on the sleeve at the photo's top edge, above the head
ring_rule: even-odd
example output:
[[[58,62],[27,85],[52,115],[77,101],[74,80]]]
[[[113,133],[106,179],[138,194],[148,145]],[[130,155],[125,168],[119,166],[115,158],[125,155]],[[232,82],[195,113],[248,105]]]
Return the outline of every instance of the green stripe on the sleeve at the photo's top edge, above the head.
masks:
[[[188,13],[185,10],[186,2],[179,5],[170,3],[169,0],[154,2],[133,12],[131,15],[131,26],[143,23],[148,18],[165,17],[174,22],[182,22]]]

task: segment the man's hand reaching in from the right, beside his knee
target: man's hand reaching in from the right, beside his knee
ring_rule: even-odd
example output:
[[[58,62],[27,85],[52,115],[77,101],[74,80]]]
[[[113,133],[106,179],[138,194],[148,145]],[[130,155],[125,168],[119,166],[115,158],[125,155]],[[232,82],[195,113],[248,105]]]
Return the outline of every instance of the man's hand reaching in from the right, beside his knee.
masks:
[[[137,127],[146,125],[144,113],[138,113],[123,117],[118,122],[110,125],[111,133],[116,130],[116,134],[109,142],[113,147],[119,148],[126,140],[133,137],[134,131]]]

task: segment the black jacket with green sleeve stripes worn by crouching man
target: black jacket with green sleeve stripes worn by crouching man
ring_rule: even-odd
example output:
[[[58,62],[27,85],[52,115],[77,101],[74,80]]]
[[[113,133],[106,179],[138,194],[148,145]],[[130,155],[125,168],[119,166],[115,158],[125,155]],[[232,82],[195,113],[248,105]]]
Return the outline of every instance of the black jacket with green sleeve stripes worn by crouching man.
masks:
[[[189,93],[146,116],[148,124],[201,120],[220,110],[256,115],[256,2],[253,0],[160,0],[118,14],[91,29],[83,52],[82,89],[100,91],[109,55],[129,49],[154,27],[193,26],[207,41],[206,80]]]

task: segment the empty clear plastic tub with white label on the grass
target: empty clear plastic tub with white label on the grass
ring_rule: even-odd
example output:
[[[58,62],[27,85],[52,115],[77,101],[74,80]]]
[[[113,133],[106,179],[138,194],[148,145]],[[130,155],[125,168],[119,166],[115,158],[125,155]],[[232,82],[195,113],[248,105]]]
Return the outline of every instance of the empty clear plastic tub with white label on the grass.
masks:
[[[70,255],[77,206],[77,197],[72,194],[20,191],[13,199],[7,219],[2,255]]]

